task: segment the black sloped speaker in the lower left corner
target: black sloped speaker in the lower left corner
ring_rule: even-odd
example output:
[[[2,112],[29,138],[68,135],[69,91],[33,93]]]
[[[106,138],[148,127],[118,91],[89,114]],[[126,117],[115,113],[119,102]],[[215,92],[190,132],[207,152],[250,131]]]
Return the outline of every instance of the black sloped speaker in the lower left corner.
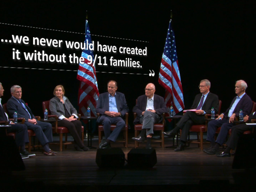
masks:
[[[16,142],[12,136],[3,136],[0,139],[0,169],[6,171],[22,171],[25,165],[20,156]]]

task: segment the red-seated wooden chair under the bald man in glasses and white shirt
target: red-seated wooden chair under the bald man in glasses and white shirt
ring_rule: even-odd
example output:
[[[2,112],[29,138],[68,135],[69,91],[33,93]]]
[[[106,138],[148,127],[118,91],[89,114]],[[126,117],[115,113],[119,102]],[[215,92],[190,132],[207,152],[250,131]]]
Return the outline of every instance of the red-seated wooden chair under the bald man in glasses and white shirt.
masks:
[[[137,104],[137,99],[136,99]],[[134,113],[134,119],[136,119],[137,113]],[[164,126],[165,126],[165,113],[163,113],[163,121],[161,124],[154,124],[154,131],[160,132],[160,140],[152,140],[152,142],[160,142],[160,146],[164,148]],[[134,136],[138,136],[138,132],[142,130],[142,124],[134,125]],[[139,146],[139,142],[135,141],[135,148]]]

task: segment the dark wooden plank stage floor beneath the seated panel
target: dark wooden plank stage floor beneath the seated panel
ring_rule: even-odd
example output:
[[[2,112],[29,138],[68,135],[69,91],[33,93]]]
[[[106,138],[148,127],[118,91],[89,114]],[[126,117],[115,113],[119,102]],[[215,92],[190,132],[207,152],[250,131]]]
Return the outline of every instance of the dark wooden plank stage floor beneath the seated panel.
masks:
[[[122,148],[126,159],[127,153],[134,148],[131,137],[129,135],[128,149],[122,143],[112,144],[112,148]],[[140,148],[144,148],[145,144],[140,144]],[[98,147],[98,140],[93,140],[92,146]],[[182,152],[174,152],[175,147],[162,149],[159,143],[153,143],[152,146],[156,149],[157,163],[153,168],[147,169],[130,169],[127,166],[116,170],[100,169],[95,162],[97,149],[76,152],[72,145],[68,145],[66,150],[58,152],[56,156],[45,156],[40,150],[36,150],[36,156],[23,160],[26,170],[12,172],[6,183],[26,183],[26,186],[32,185],[38,191],[73,191],[74,187],[77,188],[76,191],[109,191],[113,188],[117,191],[119,188],[120,191],[144,191],[146,188],[149,191],[154,188],[156,191],[186,191],[188,186],[190,189],[198,189],[202,185],[221,187],[217,191],[222,191],[225,186],[234,191],[241,189],[237,187],[234,175],[243,176],[245,173],[244,170],[232,169],[233,156],[218,158],[208,155],[197,144],[190,144]],[[165,146],[172,146],[172,139],[166,138]],[[58,146],[50,147],[58,151]],[[205,147],[208,148],[209,145],[206,144]],[[88,190],[84,190],[85,188]],[[212,190],[210,187],[207,191]]]

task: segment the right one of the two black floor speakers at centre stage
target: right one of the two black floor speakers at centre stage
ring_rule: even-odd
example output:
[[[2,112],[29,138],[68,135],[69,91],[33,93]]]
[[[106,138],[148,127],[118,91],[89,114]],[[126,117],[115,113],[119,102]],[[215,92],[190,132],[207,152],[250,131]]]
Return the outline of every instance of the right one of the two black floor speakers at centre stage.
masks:
[[[157,163],[155,149],[135,149],[127,154],[129,166],[134,167],[153,167]]]

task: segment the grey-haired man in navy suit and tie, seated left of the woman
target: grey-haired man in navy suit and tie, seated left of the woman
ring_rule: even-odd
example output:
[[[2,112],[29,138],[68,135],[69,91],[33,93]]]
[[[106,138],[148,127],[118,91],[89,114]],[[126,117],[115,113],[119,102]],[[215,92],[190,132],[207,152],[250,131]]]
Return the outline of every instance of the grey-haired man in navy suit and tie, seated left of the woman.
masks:
[[[39,142],[44,148],[44,154],[55,155],[56,152],[49,148],[48,143],[52,142],[52,125],[50,123],[37,121],[30,108],[21,99],[22,90],[18,85],[11,88],[12,97],[7,102],[7,109],[10,115],[13,116],[17,112],[18,118],[25,118],[25,125],[28,129],[33,130]]]

